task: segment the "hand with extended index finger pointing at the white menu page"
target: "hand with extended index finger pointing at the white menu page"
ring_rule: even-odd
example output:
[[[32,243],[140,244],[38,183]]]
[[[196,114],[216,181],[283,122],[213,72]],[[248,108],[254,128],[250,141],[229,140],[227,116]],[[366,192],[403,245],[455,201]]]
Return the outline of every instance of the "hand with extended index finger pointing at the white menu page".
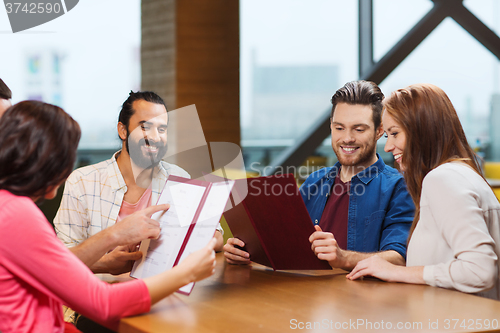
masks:
[[[119,245],[139,243],[148,238],[158,238],[160,223],[151,219],[151,215],[159,211],[166,211],[170,205],[151,206],[135,212],[110,227]]]

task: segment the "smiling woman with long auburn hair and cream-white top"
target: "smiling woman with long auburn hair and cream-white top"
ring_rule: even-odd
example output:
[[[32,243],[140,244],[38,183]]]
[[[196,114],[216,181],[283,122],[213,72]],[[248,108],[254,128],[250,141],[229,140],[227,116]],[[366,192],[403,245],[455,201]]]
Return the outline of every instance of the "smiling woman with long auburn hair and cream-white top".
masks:
[[[385,151],[404,172],[416,206],[406,267],[371,257],[347,278],[370,275],[500,299],[500,204],[448,96],[415,84],[393,92],[383,112]]]

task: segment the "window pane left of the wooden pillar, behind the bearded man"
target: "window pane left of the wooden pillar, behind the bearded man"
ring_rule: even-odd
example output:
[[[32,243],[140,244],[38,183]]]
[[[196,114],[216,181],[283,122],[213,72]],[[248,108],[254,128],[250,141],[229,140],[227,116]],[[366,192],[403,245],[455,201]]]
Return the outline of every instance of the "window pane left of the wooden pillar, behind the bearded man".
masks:
[[[63,16],[15,34],[0,10],[0,77],[13,102],[63,107],[82,127],[80,148],[119,146],[120,105],[140,87],[140,0],[117,4],[80,1]]]

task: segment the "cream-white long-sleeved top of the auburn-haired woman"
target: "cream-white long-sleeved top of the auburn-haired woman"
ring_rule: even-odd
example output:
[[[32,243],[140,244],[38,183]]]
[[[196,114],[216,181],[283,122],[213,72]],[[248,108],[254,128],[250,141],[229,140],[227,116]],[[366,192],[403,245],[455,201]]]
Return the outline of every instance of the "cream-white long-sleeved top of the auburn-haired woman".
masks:
[[[425,266],[425,283],[500,299],[500,204],[461,162],[440,165],[422,184],[420,220],[407,266]]]

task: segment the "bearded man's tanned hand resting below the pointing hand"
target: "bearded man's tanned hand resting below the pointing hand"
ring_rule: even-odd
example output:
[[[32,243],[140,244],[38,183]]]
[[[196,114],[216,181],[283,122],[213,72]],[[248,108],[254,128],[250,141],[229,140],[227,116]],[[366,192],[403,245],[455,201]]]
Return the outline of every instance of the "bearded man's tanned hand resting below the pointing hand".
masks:
[[[134,261],[142,258],[142,253],[136,250],[135,245],[133,250],[135,251],[131,252],[130,246],[116,247],[99,260],[100,270],[113,275],[130,272]]]

